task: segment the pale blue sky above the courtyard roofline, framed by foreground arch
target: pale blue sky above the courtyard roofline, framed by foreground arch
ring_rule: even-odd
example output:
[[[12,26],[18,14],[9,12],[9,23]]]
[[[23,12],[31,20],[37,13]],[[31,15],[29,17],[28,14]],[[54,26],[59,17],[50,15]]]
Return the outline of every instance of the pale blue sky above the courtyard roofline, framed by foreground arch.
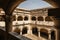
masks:
[[[52,7],[52,5],[48,4],[43,0],[26,0],[22,2],[18,7],[23,9],[33,10],[39,8]]]

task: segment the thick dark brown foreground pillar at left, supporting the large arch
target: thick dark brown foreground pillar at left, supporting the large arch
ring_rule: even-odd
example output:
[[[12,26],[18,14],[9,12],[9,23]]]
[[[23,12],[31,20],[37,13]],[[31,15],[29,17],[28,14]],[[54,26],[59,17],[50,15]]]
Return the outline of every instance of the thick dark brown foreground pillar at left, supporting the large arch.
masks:
[[[5,28],[7,32],[12,31],[12,15],[5,15]]]

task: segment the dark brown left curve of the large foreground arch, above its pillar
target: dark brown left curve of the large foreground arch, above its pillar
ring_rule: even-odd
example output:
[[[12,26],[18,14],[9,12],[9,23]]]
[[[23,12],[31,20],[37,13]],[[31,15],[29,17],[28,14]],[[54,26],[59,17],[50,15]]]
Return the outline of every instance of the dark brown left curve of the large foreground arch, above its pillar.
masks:
[[[3,7],[3,9],[5,10],[6,13],[12,13],[14,11],[14,9],[22,2],[24,2],[25,0],[10,0],[7,3],[7,8]]]

